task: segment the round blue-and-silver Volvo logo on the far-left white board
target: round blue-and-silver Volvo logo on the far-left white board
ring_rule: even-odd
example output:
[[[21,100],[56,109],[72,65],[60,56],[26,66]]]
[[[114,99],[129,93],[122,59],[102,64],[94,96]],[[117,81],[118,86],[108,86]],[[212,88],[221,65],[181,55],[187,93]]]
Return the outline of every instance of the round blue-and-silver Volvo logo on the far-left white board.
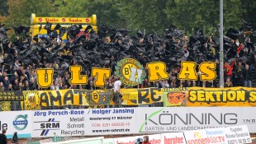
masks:
[[[18,131],[22,131],[26,128],[27,126],[27,114],[25,115],[17,115],[17,117],[14,118],[12,124],[13,124],[13,127],[16,128]]]

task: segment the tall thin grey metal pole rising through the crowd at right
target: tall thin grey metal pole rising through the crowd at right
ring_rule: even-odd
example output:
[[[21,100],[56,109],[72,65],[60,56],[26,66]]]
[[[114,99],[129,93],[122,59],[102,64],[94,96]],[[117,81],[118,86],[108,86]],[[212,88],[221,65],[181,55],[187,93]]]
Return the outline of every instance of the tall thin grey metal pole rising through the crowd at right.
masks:
[[[223,0],[220,0],[220,88],[224,87],[223,63]]]

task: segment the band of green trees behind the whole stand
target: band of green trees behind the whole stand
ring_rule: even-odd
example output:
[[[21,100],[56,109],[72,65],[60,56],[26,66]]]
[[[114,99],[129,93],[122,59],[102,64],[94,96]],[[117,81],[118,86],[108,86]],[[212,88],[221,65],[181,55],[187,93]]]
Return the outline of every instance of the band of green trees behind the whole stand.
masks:
[[[107,24],[127,28],[133,33],[144,30],[164,34],[170,24],[192,35],[199,28],[206,35],[219,24],[219,0],[0,0],[0,14],[6,26],[30,26],[36,16],[87,17],[97,15],[97,26]],[[256,28],[255,0],[224,0],[224,26],[239,29],[243,21]]]

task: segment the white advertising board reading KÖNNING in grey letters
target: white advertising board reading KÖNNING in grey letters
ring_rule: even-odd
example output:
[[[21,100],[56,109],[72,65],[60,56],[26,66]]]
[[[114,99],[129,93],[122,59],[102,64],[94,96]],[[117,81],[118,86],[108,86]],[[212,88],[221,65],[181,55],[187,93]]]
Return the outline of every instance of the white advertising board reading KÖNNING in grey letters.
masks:
[[[256,114],[251,113],[255,108],[159,107],[140,108],[136,111],[136,133],[184,132],[244,124],[249,127],[249,132],[256,132]]]

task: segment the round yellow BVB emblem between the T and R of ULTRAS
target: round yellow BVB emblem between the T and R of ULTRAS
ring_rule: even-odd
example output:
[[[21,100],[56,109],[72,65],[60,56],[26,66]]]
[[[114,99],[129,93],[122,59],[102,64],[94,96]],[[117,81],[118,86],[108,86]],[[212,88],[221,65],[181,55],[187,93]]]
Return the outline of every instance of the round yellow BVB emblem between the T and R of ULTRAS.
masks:
[[[135,59],[125,58],[117,63],[116,76],[127,86],[136,86],[145,79],[144,67]]]

